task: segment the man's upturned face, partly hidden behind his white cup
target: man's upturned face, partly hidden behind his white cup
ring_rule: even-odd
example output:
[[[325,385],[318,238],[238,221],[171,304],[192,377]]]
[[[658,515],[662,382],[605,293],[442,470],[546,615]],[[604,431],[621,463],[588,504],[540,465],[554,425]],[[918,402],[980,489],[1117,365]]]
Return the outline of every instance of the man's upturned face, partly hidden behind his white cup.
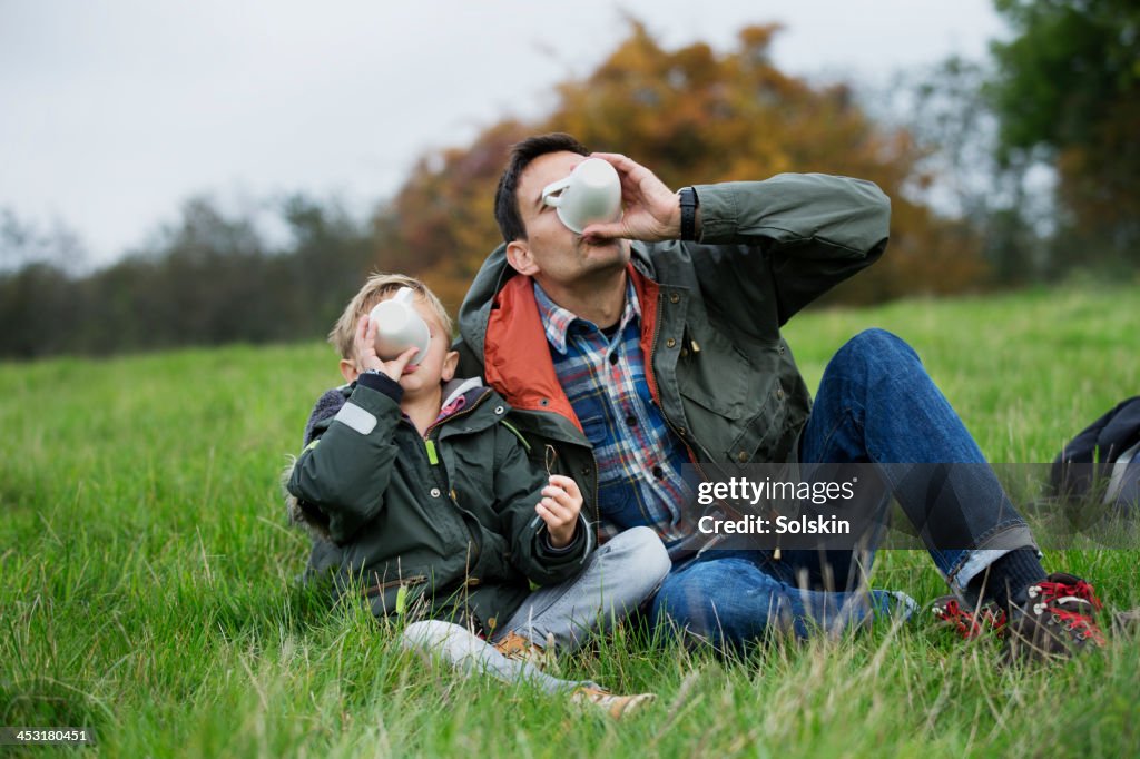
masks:
[[[543,203],[543,188],[585,160],[577,153],[547,153],[531,161],[519,177],[516,197],[527,239],[511,243],[508,256],[515,269],[539,283],[572,286],[609,272],[619,276],[629,261],[628,240],[588,243],[562,223],[554,206]]]

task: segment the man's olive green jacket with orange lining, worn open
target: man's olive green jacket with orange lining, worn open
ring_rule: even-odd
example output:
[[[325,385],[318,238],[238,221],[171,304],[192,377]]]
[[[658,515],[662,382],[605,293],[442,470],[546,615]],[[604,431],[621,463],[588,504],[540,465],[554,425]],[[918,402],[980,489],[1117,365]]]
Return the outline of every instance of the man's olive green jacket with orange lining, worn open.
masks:
[[[700,240],[632,243],[650,390],[695,463],[796,460],[811,395],[780,327],[882,254],[890,203],[872,182],[823,174],[695,189]],[[510,401],[532,456],[556,448],[601,521],[593,450],[554,374],[530,279],[505,246],[477,275],[459,335],[459,370]]]

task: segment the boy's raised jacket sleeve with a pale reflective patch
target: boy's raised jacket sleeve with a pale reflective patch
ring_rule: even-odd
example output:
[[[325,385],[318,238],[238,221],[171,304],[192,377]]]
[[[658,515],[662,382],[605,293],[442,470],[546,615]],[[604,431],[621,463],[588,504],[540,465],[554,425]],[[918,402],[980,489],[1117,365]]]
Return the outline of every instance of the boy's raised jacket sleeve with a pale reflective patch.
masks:
[[[293,466],[286,489],[328,516],[336,544],[351,540],[383,506],[402,392],[386,376],[360,375],[352,395],[327,426],[316,426]]]

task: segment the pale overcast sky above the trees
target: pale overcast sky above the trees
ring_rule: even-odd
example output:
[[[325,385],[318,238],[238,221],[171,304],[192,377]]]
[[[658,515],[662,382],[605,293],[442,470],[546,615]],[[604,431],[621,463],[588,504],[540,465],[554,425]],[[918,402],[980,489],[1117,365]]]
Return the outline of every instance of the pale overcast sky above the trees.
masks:
[[[0,0],[0,206],[64,222],[92,262],[199,193],[364,211],[425,150],[549,107],[622,13],[669,48],[780,22],[776,65],[829,81],[980,58],[1004,33],[992,0]]]

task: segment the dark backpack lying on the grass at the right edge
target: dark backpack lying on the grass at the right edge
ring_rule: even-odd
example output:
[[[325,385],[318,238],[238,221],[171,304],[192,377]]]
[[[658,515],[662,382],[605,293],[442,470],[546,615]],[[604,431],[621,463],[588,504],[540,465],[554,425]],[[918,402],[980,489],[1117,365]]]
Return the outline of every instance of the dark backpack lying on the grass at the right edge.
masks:
[[[1049,474],[1052,495],[1065,500],[1093,498],[1140,508],[1138,446],[1140,395],[1117,403],[1061,449]]]

